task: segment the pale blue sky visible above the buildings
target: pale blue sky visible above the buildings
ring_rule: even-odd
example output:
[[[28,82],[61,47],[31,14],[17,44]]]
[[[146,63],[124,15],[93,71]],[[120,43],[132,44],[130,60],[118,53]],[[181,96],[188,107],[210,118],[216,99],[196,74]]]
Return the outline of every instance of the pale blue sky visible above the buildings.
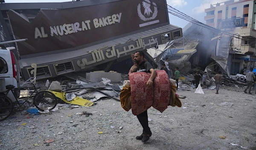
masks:
[[[69,2],[72,0],[5,0],[6,3],[39,3],[39,2]],[[210,4],[221,3],[227,0],[166,0],[169,6],[183,12],[184,14],[202,22],[206,13],[204,9],[210,8]],[[235,0],[237,1],[237,0]],[[183,28],[187,23],[179,17],[169,14],[170,24]]]

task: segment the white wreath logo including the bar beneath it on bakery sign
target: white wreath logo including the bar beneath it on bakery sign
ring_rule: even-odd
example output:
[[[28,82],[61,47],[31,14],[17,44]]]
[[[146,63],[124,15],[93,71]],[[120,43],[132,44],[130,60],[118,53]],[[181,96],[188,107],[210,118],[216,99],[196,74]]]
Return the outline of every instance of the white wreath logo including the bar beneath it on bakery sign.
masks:
[[[151,1],[150,0],[143,0],[142,2],[142,6],[144,8],[144,14],[142,14],[141,12],[141,6],[140,4],[137,7],[137,11],[138,11],[138,16],[140,17],[141,20],[143,21],[149,21],[149,20],[154,20],[157,17],[157,4],[152,2],[152,5],[154,6],[154,12],[151,10]],[[142,23],[139,26],[140,27],[144,27],[147,25],[152,25],[155,23],[159,23],[159,20],[154,20],[151,22],[147,22],[147,23]]]

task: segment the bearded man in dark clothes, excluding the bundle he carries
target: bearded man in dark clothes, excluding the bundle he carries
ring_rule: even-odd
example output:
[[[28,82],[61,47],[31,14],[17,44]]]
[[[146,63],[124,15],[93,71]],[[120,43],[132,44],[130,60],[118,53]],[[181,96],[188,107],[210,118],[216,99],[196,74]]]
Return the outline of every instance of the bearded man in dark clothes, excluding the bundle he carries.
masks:
[[[144,53],[143,51],[137,51],[134,54],[134,62],[139,65],[139,69],[137,72],[151,72],[151,76],[148,79],[147,86],[153,86],[154,78],[156,77],[156,71],[154,70],[153,66],[149,62],[143,61]],[[148,127],[148,112],[147,110],[143,113],[137,115],[137,118],[140,121],[140,124],[143,127],[143,133],[141,136],[137,136],[137,140],[141,140],[142,142],[147,142],[149,137],[152,135],[150,128]]]

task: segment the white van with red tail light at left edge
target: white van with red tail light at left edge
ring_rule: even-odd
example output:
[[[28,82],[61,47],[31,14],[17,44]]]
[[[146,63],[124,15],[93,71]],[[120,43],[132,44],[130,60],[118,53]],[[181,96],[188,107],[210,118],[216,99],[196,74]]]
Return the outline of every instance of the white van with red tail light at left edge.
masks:
[[[17,59],[9,48],[0,48],[0,79],[5,79],[5,85],[13,85],[15,88],[20,88],[20,69]],[[9,92],[9,98],[15,102],[15,98],[20,96],[20,91],[15,91],[15,95]],[[1,93],[0,93],[1,94]],[[3,93],[2,93],[3,94]]]

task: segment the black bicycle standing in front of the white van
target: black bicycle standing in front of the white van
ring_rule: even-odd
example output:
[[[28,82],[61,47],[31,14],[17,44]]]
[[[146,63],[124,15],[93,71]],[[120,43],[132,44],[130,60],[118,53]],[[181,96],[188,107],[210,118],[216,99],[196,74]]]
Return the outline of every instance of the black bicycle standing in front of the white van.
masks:
[[[31,80],[32,79],[32,80]],[[26,103],[29,102],[29,100],[32,99],[32,95],[35,93],[35,96],[32,99],[31,105],[35,105],[36,108],[39,110],[52,110],[57,105],[57,97],[50,91],[40,91],[40,88],[37,88],[34,84],[36,77],[31,77],[28,80],[26,80],[21,87],[27,84],[32,83],[31,87],[26,88],[14,88],[14,86],[6,86],[6,91],[0,92],[0,121],[7,119],[13,112],[14,108],[17,108],[18,110],[23,110],[26,108]],[[20,104],[18,99],[15,96],[15,90],[34,90],[32,94],[23,102],[23,104]],[[17,107],[15,107],[12,100],[8,97],[8,93],[12,92],[12,94],[15,97],[15,100],[17,102]],[[30,103],[30,102],[29,102]],[[30,106],[31,106],[30,105]]]

